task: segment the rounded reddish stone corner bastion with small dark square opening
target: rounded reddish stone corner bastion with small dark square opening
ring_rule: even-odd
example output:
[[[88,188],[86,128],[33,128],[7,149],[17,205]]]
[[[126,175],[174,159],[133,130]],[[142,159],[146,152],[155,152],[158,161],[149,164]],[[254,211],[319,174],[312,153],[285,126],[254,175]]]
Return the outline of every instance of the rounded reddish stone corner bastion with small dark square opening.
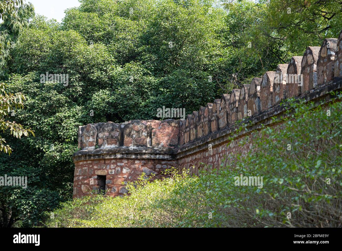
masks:
[[[133,120],[79,127],[74,154],[74,198],[105,190],[110,196],[127,193],[125,184],[144,172],[161,178],[177,167],[179,120]]]

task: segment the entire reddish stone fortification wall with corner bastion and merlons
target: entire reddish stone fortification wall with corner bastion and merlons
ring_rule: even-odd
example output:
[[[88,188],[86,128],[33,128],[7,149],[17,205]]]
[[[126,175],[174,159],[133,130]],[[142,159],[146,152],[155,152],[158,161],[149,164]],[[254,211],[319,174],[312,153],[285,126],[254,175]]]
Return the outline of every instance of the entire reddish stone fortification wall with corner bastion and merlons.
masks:
[[[274,126],[273,118],[284,116],[289,98],[330,101],[332,90],[342,88],[342,32],[338,39],[307,47],[303,56],[294,56],[276,71],[253,78],[251,84],[223,94],[200,107],[185,120],[133,120],[121,124],[107,122],[79,127],[74,154],[74,198],[103,190],[109,196],[127,193],[125,184],[142,173],[161,178],[163,170],[176,167],[218,168],[240,147],[241,137],[250,136],[261,124]],[[240,120],[250,123],[247,131],[236,133]],[[234,135],[234,140],[229,138]]]

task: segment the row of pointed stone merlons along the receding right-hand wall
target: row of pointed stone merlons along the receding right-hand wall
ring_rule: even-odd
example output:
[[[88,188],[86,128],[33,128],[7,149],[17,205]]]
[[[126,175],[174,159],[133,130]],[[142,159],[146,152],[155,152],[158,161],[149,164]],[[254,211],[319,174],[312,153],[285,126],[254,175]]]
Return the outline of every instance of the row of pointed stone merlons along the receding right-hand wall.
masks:
[[[223,94],[198,112],[197,140],[218,130],[232,127],[236,121],[265,113],[286,99],[301,98],[316,88],[342,76],[342,32],[338,39],[325,39],[321,46],[308,46],[303,56],[293,56],[288,64],[279,64],[262,78],[252,78],[231,94]],[[218,109],[217,109],[218,108]],[[207,109],[208,119],[203,119]],[[182,130],[182,129],[181,129]],[[192,142],[192,140],[187,143]]]

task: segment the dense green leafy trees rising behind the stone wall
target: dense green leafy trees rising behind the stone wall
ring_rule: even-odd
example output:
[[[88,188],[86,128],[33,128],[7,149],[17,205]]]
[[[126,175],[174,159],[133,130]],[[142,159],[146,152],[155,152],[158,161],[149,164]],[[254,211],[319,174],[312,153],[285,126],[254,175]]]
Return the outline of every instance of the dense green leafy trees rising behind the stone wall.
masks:
[[[29,182],[26,190],[0,189],[13,222],[36,224],[43,211],[70,199],[79,125],[152,119],[162,106],[191,113],[341,29],[339,2],[216,5],[82,0],[62,23],[35,15],[32,4],[3,15],[0,81],[27,97],[8,120],[36,134],[2,135],[13,151],[0,153],[0,175],[21,173]],[[68,74],[68,84],[42,83],[46,72]]]

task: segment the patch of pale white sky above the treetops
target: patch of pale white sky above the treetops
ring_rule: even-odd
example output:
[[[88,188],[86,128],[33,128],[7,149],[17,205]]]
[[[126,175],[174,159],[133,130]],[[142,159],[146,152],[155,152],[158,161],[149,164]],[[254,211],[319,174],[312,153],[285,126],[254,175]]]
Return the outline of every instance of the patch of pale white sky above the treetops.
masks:
[[[48,19],[54,18],[61,22],[65,16],[64,11],[69,8],[78,7],[78,0],[24,0],[31,2],[35,6],[36,14],[46,16]]]

